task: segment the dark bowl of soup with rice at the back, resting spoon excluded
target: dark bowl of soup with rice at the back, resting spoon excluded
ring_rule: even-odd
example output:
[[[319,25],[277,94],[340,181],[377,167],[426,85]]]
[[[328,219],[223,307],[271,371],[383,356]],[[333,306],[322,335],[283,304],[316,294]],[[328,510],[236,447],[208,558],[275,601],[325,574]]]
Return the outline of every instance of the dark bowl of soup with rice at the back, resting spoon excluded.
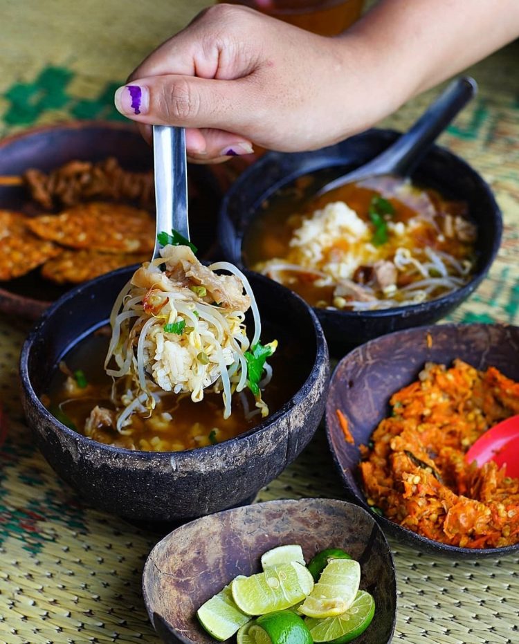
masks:
[[[226,255],[301,295],[337,352],[446,315],[480,284],[499,247],[489,186],[437,146],[411,178],[315,197],[398,136],[371,130],[317,151],[268,153],[222,203]]]

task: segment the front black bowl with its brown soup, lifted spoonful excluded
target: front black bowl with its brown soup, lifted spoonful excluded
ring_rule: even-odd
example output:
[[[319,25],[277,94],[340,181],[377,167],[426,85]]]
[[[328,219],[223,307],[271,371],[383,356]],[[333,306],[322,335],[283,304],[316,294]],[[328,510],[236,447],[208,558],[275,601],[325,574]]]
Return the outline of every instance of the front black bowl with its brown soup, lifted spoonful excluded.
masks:
[[[240,504],[279,475],[318,426],[329,371],[320,324],[299,297],[250,275],[262,338],[278,341],[269,359],[266,418],[249,414],[253,401],[245,396],[233,396],[233,413],[224,418],[221,396],[197,403],[177,396],[175,402],[171,392],[163,392],[154,422],[137,418],[112,432],[102,429],[99,418],[95,434],[89,434],[93,408],[109,408],[111,379],[103,369],[107,321],[131,274],[118,270],[71,291],[26,340],[22,399],[37,445],[93,506],[117,515],[172,521]]]

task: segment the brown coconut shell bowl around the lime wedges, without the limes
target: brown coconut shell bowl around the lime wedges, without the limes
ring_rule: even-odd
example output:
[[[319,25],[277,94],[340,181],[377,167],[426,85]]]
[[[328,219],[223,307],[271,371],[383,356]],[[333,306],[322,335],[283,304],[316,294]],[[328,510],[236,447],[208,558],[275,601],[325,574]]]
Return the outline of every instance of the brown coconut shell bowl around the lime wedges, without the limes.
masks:
[[[168,644],[215,642],[197,609],[236,576],[261,571],[260,557],[282,544],[300,544],[307,562],[319,551],[346,550],[361,564],[361,589],[375,614],[356,644],[387,644],[397,614],[391,551],[372,515],[332,499],[271,501],[203,517],[177,528],[149,554],[143,595],[149,618]]]

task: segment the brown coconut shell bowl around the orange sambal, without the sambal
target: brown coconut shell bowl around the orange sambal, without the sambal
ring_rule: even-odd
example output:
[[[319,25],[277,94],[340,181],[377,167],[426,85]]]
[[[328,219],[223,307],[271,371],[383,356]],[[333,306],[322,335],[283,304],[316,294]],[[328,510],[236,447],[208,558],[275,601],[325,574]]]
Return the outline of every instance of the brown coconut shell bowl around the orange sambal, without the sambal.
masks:
[[[440,324],[390,333],[363,344],[340,360],[331,379],[326,425],[331,453],[347,493],[370,510],[358,475],[360,445],[390,415],[389,400],[417,380],[426,362],[450,367],[455,358],[476,369],[496,367],[519,379],[519,328],[500,324]],[[345,440],[336,410],[343,412],[353,443]],[[385,532],[430,553],[453,558],[496,558],[518,553],[519,544],[500,548],[462,548],[437,542],[373,513]]]

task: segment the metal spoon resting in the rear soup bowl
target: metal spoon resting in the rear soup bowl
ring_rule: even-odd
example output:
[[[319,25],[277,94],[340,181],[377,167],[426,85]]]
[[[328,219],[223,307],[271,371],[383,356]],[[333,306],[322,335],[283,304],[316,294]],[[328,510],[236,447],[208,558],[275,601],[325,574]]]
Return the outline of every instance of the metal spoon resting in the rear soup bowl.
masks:
[[[477,83],[468,76],[454,80],[414,125],[379,156],[322,187],[317,196],[345,183],[373,176],[409,176],[428,152],[435,139],[477,92]]]

